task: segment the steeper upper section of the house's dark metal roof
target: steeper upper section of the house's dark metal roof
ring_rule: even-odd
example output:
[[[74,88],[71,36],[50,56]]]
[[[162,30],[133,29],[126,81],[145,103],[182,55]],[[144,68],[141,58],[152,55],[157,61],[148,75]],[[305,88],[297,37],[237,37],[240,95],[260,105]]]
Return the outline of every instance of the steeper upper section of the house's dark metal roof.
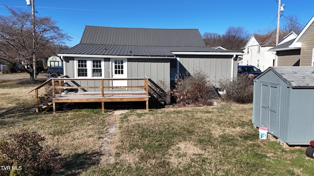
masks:
[[[206,47],[198,29],[85,26],[80,44]]]

